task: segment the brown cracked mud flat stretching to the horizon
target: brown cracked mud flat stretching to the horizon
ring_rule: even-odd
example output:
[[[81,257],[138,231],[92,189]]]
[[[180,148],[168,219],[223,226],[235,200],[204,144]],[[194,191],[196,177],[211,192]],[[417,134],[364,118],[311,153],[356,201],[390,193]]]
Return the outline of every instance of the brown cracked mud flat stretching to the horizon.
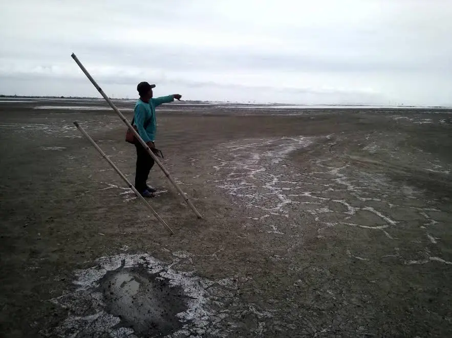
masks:
[[[69,104],[0,104],[0,335],[452,335],[450,111],[162,106],[204,216],[156,165],[170,236],[72,125],[133,180],[119,118]]]

